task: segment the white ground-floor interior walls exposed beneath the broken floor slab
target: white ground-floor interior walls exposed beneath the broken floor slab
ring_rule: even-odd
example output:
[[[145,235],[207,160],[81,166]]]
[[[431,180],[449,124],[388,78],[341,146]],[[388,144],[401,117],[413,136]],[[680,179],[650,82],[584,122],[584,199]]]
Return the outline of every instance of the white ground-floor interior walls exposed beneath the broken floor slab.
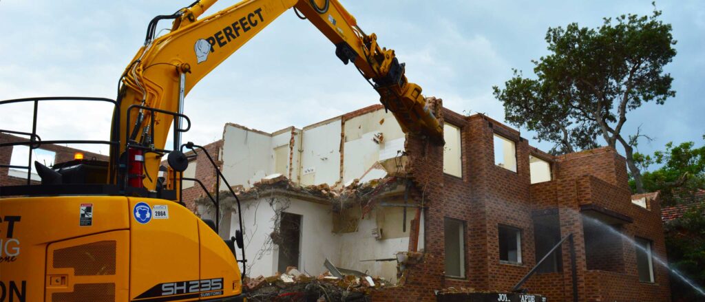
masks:
[[[364,220],[360,220],[357,232],[345,234],[333,233],[333,219],[331,207],[321,203],[313,203],[300,199],[288,198],[290,201],[287,213],[302,215],[302,236],[300,243],[299,270],[309,275],[319,275],[326,270],[323,263],[329,259],[339,268],[348,268],[367,272],[369,275],[384,277],[390,282],[396,282],[396,261],[367,261],[360,260],[395,258],[399,251],[407,251],[409,237],[393,239],[375,239],[372,229],[383,227],[390,229],[401,228],[398,215],[387,215],[388,221],[378,216],[378,210],[373,210]],[[263,197],[250,201],[243,201],[243,220],[245,220],[245,253],[247,255],[248,272],[250,277],[259,275],[270,276],[276,274],[278,247],[266,244],[269,234],[274,230],[275,210],[269,204],[269,198]],[[239,228],[237,213],[231,213],[229,218],[229,234],[227,227],[221,232],[223,238],[235,236]],[[204,216],[211,217],[211,213]],[[407,213],[407,232],[410,232],[410,220],[414,217],[413,211]],[[392,219],[393,218],[393,219]],[[380,223],[380,220],[384,220]],[[223,224],[226,223],[223,221]],[[423,226],[423,220],[421,222]],[[398,233],[398,232],[397,232]],[[419,232],[419,248],[423,248],[423,227]],[[242,256],[237,251],[238,259]]]

